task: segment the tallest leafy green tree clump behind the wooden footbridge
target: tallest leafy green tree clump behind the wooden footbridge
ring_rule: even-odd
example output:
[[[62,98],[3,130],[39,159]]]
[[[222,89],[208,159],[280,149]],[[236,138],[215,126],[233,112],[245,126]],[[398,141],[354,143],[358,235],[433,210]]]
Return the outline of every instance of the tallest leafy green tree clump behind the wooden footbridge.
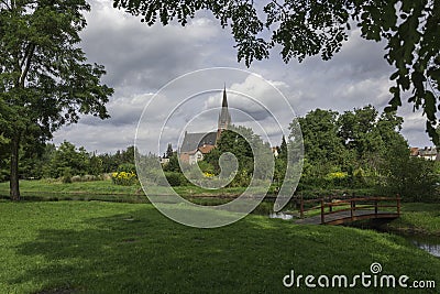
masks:
[[[324,185],[323,179],[338,172],[345,173],[352,184],[363,183],[364,176],[388,176],[389,168],[383,166],[394,154],[391,150],[408,152],[400,133],[403,118],[395,112],[378,116],[372,106],[342,115],[316,109],[298,121],[305,148],[302,184]]]

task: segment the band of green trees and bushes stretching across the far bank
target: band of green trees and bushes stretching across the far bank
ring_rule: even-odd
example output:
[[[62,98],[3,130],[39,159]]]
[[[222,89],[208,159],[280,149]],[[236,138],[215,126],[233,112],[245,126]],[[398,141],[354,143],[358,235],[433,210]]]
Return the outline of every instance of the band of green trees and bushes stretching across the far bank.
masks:
[[[403,121],[396,113],[380,113],[372,106],[343,113],[316,109],[298,118],[304,140],[304,166],[296,192],[369,189],[377,195],[400,194],[411,200],[438,199],[440,163],[410,156],[408,143],[400,133]],[[298,138],[298,128],[294,122],[290,135],[282,138],[274,156],[271,146],[252,129],[233,126],[222,132],[217,146],[198,165],[183,164],[182,171],[178,154],[168,144],[163,157],[169,162],[157,168],[164,170],[172,186],[191,185],[184,172],[197,181],[220,175],[219,160],[230,152],[235,155],[238,171],[228,186],[248,186],[252,178],[271,179],[272,188],[276,190],[286,178],[287,152],[297,156],[299,150],[293,138]],[[6,145],[0,144],[0,181],[8,181],[10,175],[8,152],[1,150]],[[54,144],[23,143],[20,178],[69,179],[86,175],[99,178],[102,174],[112,173],[114,183],[133,184],[138,183],[134,178],[134,146],[129,146],[114,154],[96,154],[66,141],[57,148]],[[260,154],[257,161],[253,152]],[[158,164],[157,156],[150,154],[146,157]],[[273,160],[272,177],[270,167]],[[267,168],[254,170],[254,163]]]

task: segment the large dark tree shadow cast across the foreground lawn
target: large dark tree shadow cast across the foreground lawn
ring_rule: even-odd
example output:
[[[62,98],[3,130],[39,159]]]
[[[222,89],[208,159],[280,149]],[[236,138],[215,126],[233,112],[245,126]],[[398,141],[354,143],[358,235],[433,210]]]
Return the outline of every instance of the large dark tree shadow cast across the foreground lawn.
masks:
[[[419,266],[413,271],[418,276],[432,279],[440,272],[440,261],[355,229],[263,217],[196,229],[151,207],[84,221],[87,229],[43,229],[34,241],[19,246],[18,254],[45,262],[28,264],[9,283],[31,281],[38,285],[32,290],[36,293],[283,293],[293,291],[283,286],[283,277],[294,269],[305,275],[350,275],[381,262],[395,274],[411,266]],[[420,271],[425,262],[431,265]]]

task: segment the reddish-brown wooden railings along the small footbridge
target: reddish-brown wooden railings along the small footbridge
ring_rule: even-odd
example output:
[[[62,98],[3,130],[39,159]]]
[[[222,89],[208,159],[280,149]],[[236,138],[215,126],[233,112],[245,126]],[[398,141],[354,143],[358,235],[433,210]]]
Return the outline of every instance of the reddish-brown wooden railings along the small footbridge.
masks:
[[[308,199],[304,200],[302,197],[300,197],[300,207],[299,207],[299,213],[300,213],[300,218],[304,218],[305,213],[312,211],[312,210],[320,210],[320,216],[321,216],[321,224],[326,222],[326,216],[342,213],[342,211],[350,211],[350,217],[353,219],[355,217],[355,211],[356,210],[372,210],[374,209],[374,215],[377,217],[380,214],[380,209],[385,208],[395,208],[397,216],[400,216],[400,197],[397,195],[395,198],[392,197],[353,197],[353,198],[332,198],[328,197],[329,202],[326,202],[324,198],[319,198],[319,199]],[[394,203],[395,204],[389,204]],[[316,206],[312,206],[310,208],[305,208],[305,205],[307,204],[314,204],[316,203]],[[382,203],[382,204],[380,204]],[[385,204],[383,204],[385,203]],[[327,211],[326,211],[327,210]],[[381,211],[384,213],[384,211]],[[394,213],[394,211],[391,211]]]

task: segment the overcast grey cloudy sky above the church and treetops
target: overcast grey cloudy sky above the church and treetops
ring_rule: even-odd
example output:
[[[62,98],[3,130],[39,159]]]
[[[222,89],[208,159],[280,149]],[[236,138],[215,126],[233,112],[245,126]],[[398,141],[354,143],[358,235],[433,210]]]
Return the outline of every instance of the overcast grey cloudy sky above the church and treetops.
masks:
[[[273,92],[262,84],[258,76],[276,86],[298,116],[316,108],[342,112],[369,104],[382,111],[391,99],[388,88],[392,84],[388,77],[393,67],[383,58],[385,44],[361,39],[358,30],[351,31],[349,42],[329,62],[317,56],[306,58],[301,64],[296,61],[284,64],[277,50],[274,50],[270,59],[254,62],[246,68],[237,61],[230,30],[222,30],[219,22],[207,13],[199,13],[185,28],[178,24],[147,26],[139,19],[113,9],[110,0],[90,2],[92,9],[86,14],[88,25],[81,33],[81,46],[90,63],[102,64],[107,69],[102,81],[114,88],[114,95],[107,106],[111,118],[101,121],[94,117],[84,117],[79,123],[57,131],[54,137],[56,144],[67,140],[99,153],[114,153],[132,145],[138,122],[154,94],[182,75],[210,67],[235,67],[257,76],[249,74],[235,79],[229,76],[224,80],[220,80],[221,76],[206,76],[196,83],[187,83],[185,89],[182,85],[175,86],[168,97],[155,97],[162,98],[164,105],[173,105],[173,99],[179,96],[180,90],[182,99],[196,95],[197,99],[193,99],[193,104],[182,105],[173,113],[177,113],[175,117],[182,118],[186,123],[191,118],[200,118],[197,126],[205,127],[200,131],[217,128],[223,83],[231,91],[229,100],[232,108],[237,111],[248,109],[249,113],[253,111],[252,113],[257,115],[252,119],[260,118],[262,122],[265,119],[264,111],[255,110],[251,105],[246,108],[246,102],[233,92],[242,94],[242,97],[256,97],[264,107],[273,111],[271,116],[286,130],[294,115],[280,107],[278,98],[271,99]],[[212,91],[197,95],[200,85],[211,87]],[[237,111],[232,113],[232,121],[246,124],[245,119],[240,118]],[[167,117],[173,117],[168,112],[157,108],[153,115],[150,113],[147,121],[144,118],[141,124],[147,130],[143,135],[148,137],[150,131],[153,133],[151,137],[155,137],[155,130],[164,126]],[[404,101],[404,108],[398,115],[404,117],[403,133],[410,145],[431,145],[420,111],[414,113],[411,106]],[[178,120],[172,127],[178,128],[161,139],[172,142],[175,148],[182,130],[197,131],[190,123],[180,124],[176,121]],[[271,143],[276,144],[280,141],[282,132],[275,127],[268,129],[271,130],[266,132]]]

